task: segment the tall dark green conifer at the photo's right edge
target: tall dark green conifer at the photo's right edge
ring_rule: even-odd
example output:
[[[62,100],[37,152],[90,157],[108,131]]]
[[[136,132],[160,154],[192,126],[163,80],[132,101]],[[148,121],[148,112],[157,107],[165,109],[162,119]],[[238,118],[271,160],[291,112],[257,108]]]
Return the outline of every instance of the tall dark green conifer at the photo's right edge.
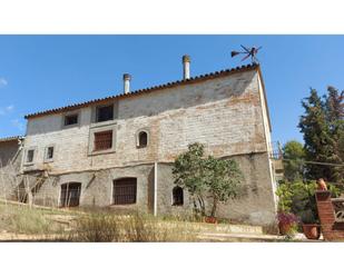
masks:
[[[324,100],[315,89],[302,101],[305,113],[298,127],[304,135],[306,160],[344,164],[344,92],[327,88]],[[306,177],[325,178],[328,181],[344,182],[343,167],[306,165]]]

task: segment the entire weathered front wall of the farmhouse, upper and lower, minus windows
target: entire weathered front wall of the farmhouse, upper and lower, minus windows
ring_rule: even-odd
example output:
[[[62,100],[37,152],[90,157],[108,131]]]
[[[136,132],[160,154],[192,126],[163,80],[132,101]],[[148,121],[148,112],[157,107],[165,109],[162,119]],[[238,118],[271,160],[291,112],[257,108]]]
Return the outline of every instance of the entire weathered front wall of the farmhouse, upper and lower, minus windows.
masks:
[[[170,164],[197,141],[206,146],[207,154],[235,157],[245,175],[247,195],[219,207],[218,215],[257,224],[274,220],[269,120],[256,69],[112,101],[115,119],[106,122],[92,122],[95,107],[78,110],[79,123],[71,128],[62,127],[63,113],[29,118],[24,148],[36,149],[36,157],[22,169],[47,169],[50,175],[37,200],[49,198],[58,205],[60,185],[79,181],[80,205],[109,206],[112,180],[136,177],[134,208],[151,211],[154,162],[158,162],[157,212],[188,212],[187,195],[184,207],[171,206]],[[100,128],[115,132],[114,151],[92,155],[90,135]],[[149,135],[146,148],[137,148],[140,129]],[[50,162],[45,162],[47,146],[55,147]]]

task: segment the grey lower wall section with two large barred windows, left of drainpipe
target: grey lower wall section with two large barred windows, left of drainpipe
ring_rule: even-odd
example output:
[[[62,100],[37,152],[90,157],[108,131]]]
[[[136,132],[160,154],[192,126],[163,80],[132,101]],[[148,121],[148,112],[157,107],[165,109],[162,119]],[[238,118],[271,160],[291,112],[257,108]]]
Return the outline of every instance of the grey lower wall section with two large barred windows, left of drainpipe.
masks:
[[[153,202],[149,199],[151,199],[153,194],[154,165],[49,176],[35,195],[33,202],[36,205],[58,207],[60,205],[61,185],[67,182],[80,182],[81,207],[110,207],[114,204],[114,180],[128,177],[137,178],[137,201],[135,205],[116,206],[116,208],[150,212],[153,210]],[[150,197],[148,194],[150,194]]]

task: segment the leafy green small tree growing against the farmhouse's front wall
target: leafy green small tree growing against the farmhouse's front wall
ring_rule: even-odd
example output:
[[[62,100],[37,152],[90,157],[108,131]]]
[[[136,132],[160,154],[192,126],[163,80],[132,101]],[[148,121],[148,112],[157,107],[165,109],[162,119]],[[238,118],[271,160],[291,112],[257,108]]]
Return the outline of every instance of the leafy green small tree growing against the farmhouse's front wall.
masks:
[[[229,159],[204,157],[204,146],[193,144],[188,151],[179,155],[173,168],[175,184],[188,190],[194,198],[195,211],[206,212],[205,197],[212,199],[210,216],[217,205],[242,195],[243,174],[237,164]]]

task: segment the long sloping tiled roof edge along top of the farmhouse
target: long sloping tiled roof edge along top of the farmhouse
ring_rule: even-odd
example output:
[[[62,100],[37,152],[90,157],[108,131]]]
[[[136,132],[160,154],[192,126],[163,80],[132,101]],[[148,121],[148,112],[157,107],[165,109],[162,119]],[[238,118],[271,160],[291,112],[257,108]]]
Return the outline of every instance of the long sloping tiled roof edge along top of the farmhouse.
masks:
[[[27,115],[24,118],[29,119],[29,118],[33,118],[33,117],[50,115],[50,113],[59,113],[59,112],[63,112],[63,111],[68,111],[68,110],[83,108],[83,107],[87,107],[87,106],[90,106],[90,105],[94,105],[94,103],[105,102],[105,101],[108,101],[108,100],[111,100],[111,99],[132,97],[132,96],[148,93],[148,92],[156,91],[156,90],[173,88],[173,87],[176,87],[176,86],[185,86],[185,85],[189,85],[189,83],[194,83],[194,82],[198,82],[198,81],[203,81],[203,80],[208,80],[208,79],[224,77],[224,76],[232,75],[232,73],[237,73],[237,72],[242,72],[242,71],[256,69],[258,67],[259,67],[258,65],[252,63],[252,65],[236,67],[236,68],[232,68],[232,69],[225,69],[225,70],[215,71],[215,72],[207,73],[207,75],[196,76],[196,77],[193,77],[188,80],[178,80],[178,81],[174,81],[174,82],[167,82],[167,83],[164,83],[164,85],[160,85],[160,86],[155,86],[155,87],[150,87],[150,88],[146,88],[146,89],[135,90],[135,91],[131,91],[127,95],[120,93],[120,95],[116,95],[116,96],[109,96],[109,97],[106,97],[106,98],[94,99],[94,100],[86,101],[86,102],[65,106],[65,107],[61,107],[61,108],[56,108],[56,109],[50,109],[50,110],[45,110],[45,111],[38,111],[38,112],[35,112],[35,113]]]

